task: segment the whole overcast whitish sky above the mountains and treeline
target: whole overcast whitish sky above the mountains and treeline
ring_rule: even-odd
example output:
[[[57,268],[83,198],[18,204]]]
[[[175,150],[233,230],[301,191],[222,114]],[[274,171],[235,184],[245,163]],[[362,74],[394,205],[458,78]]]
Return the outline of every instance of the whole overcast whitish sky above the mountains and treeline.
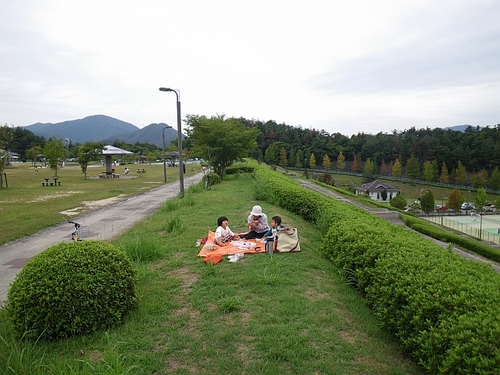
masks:
[[[0,124],[500,124],[497,0],[2,0]],[[184,127],[184,123],[183,123]]]

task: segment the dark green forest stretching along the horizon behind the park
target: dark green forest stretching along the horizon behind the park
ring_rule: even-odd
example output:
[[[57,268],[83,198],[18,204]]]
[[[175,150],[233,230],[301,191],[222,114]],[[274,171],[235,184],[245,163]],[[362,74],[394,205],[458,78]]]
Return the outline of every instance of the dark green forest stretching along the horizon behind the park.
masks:
[[[243,125],[259,130],[257,147],[249,156],[270,165],[318,168],[333,171],[406,177],[500,190],[500,124],[467,127],[463,132],[451,129],[415,129],[392,133],[341,133],[294,127],[275,121],[238,119]],[[21,127],[0,127],[0,148],[30,160],[29,150],[43,150],[47,140]],[[176,150],[173,142],[169,150]],[[76,157],[79,144],[67,146],[68,157]],[[133,145],[119,142],[149,160],[161,159],[162,149],[148,143]],[[192,142],[183,142],[188,157],[207,158],[190,153]],[[31,152],[33,154],[33,150]]]

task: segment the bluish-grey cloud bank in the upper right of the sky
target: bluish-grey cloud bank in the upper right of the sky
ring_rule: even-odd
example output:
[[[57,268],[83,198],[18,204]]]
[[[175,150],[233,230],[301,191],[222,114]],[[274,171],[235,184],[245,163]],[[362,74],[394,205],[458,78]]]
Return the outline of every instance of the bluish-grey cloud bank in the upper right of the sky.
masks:
[[[500,6],[457,5],[406,20],[377,50],[333,64],[313,84],[331,94],[370,94],[498,82]]]

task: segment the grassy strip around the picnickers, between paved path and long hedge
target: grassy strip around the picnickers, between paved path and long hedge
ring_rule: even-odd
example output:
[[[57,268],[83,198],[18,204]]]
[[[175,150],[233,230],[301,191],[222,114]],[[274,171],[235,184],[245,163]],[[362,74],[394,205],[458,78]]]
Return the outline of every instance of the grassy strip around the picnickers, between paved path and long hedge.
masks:
[[[138,306],[123,325],[30,344],[12,338],[1,311],[0,358],[25,355],[23,366],[35,375],[422,373],[349,279],[320,255],[317,228],[255,201],[250,175],[229,179],[209,191],[191,187],[185,199],[167,202],[114,241],[140,275]],[[221,215],[243,230],[254,204],[299,228],[302,251],[205,265],[196,240]],[[0,364],[0,374],[24,373],[5,368]]]

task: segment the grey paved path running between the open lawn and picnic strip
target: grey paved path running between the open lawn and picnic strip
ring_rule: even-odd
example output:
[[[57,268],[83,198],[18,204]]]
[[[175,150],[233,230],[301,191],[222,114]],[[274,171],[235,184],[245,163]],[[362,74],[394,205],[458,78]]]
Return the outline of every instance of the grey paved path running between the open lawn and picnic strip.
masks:
[[[202,177],[202,173],[186,177],[184,186],[197,184]],[[167,199],[178,194],[179,181],[174,181],[71,220],[81,224],[82,239],[107,241],[132,228],[135,223],[157,211]],[[52,245],[71,241],[73,230],[72,224],[63,223],[0,246],[0,306],[7,301],[10,284],[26,262]]]

